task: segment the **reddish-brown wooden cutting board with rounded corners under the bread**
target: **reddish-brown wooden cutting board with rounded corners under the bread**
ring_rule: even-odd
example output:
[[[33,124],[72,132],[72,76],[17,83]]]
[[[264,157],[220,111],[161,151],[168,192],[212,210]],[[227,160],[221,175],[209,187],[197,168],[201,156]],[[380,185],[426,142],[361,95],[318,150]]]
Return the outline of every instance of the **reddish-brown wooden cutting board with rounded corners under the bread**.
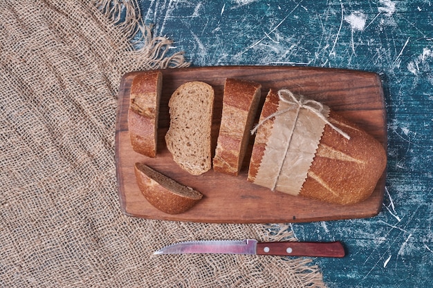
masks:
[[[268,223],[311,222],[367,218],[382,207],[385,173],[370,198],[349,206],[325,204],[317,200],[272,192],[246,180],[248,160],[238,177],[208,171],[193,176],[180,169],[165,148],[164,135],[169,126],[168,101],[174,90],[186,81],[205,81],[215,90],[214,130],[221,119],[223,84],[226,77],[257,81],[262,85],[261,104],[269,88],[288,88],[328,105],[387,146],[386,111],[380,77],[375,73],[329,68],[282,66],[222,66],[162,70],[163,93],[160,103],[158,155],[152,159],[135,153],[129,142],[127,113],[133,77],[122,77],[116,119],[116,169],[122,211],[130,216],[192,222]],[[257,119],[258,119],[257,115]],[[216,135],[214,135],[216,136]],[[214,137],[216,143],[216,137]],[[251,143],[252,144],[252,143]],[[252,146],[250,144],[250,146]],[[204,197],[185,213],[169,215],[152,207],[141,195],[133,173],[136,162],[145,162],[177,182],[201,191]]]

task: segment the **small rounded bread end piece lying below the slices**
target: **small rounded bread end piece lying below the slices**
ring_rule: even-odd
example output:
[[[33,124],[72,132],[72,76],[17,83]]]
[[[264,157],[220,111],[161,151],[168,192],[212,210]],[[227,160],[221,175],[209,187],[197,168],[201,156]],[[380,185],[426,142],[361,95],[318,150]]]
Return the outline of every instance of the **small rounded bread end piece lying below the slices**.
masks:
[[[183,186],[143,163],[134,166],[138,187],[147,201],[168,214],[179,214],[191,209],[203,195]]]

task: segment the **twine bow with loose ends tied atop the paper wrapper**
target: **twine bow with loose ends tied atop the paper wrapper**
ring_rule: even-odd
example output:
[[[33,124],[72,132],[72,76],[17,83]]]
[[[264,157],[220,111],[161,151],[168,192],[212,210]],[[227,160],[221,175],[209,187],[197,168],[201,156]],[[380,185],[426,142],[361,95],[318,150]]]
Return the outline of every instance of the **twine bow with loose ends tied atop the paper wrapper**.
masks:
[[[288,111],[292,111],[295,110],[297,111],[296,115],[299,115],[299,111],[301,109],[307,109],[308,111],[313,112],[317,117],[319,117],[320,119],[323,120],[323,122],[325,122],[326,124],[328,124],[329,126],[331,126],[331,128],[333,128],[335,131],[337,131],[338,133],[340,133],[340,135],[342,135],[344,138],[346,138],[347,140],[350,140],[350,136],[345,133],[344,131],[342,131],[340,128],[334,126],[331,122],[329,122],[328,119],[326,119],[326,117],[323,115],[322,111],[323,111],[323,105],[320,102],[317,102],[315,100],[311,100],[311,99],[305,99],[303,95],[298,95],[298,97],[295,96],[295,94],[293,94],[291,92],[291,90],[288,89],[281,89],[278,90],[278,97],[282,102],[285,102],[287,104],[291,104],[291,107],[286,108],[282,111],[277,111],[271,115],[269,115],[268,117],[266,117],[265,119],[261,120],[261,122],[259,122],[252,130],[251,130],[251,135],[253,135],[254,133],[257,132],[257,129],[264,124],[264,122],[268,121],[269,119],[276,117],[278,115],[282,115],[284,113],[287,113]],[[295,122],[297,120],[297,116],[295,119]],[[293,125],[293,129],[295,129],[295,125]]]

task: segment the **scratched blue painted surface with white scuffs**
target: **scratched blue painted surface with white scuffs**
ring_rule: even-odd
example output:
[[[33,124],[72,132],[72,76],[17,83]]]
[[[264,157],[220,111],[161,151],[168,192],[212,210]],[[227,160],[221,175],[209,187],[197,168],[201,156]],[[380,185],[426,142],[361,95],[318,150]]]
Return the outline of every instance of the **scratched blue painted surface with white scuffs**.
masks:
[[[287,3],[286,3],[287,2]],[[317,259],[329,287],[432,287],[433,6],[430,1],[144,1],[154,34],[193,66],[300,65],[383,75],[388,177],[383,211],[291,225],[300,240],[342,240]]]

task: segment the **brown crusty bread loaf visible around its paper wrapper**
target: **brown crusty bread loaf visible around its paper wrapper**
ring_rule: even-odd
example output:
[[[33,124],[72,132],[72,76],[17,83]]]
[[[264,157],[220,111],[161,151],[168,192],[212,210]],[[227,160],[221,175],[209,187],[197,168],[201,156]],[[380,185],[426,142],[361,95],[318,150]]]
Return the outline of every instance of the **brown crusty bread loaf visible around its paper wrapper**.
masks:
[[[278,105],[277,93],[270,90],[260,120],[273,115]],[[254,182],[259,171],[274,119],[264,122],[257,132],[248,171],[248,180],[251,182]],[[337,113],[331,111],[328,120],[347,133],[350,140],[328,124],[325,125],[299,195],[336,204],[353,204],[365,200],[374,191],[385,171],[385,149],[374,137]]]

